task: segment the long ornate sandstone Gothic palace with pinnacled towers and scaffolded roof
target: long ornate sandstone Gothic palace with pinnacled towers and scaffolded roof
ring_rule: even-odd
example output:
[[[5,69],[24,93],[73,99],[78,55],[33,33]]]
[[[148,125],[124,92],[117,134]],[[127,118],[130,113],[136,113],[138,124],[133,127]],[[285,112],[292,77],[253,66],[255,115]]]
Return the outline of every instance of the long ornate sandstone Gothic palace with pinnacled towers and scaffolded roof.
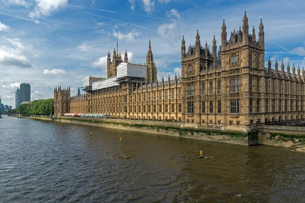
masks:
[[[305,71],[282,61],[265,68],[264,25],[258,36],[249,33],[245,11],[242,28],[227,40],[225,20],[221,47],[216,39],[212,52],[201,46],[197,30],[194,46],[181,42],[181,77],[157,79],[157,67],[150,40],[144,65],[124,61],[113,51],[107,58],[107,79],[85,77],[85,93],[70,95],[70,87],[54,89],[54,114],[110,114],[112,118],[176,120],[182,126],[218,126],[221,129],[249,129],[252,125],[276,124],[304,119]],[[218,52],[218,53],[217,53]],[[297,74],[295,73],[297,71]]]

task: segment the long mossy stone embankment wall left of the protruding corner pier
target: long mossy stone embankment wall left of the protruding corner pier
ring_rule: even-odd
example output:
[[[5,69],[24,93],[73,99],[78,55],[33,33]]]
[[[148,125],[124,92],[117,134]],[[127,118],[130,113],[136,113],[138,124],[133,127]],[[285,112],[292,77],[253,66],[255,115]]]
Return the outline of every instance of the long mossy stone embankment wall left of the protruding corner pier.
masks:
[[[59,121],[59,118],[55,118]],[[181,122],[146,121],[130,119],[102,119],[102,118],[79,118],[60,117],[60,122],[82,123],[103,127],[111,127],[123,130],[133,130],[146,133],[164,134],[182,138],[223,142],[237,145],[257,144],[257,136],[253,133],[221,131],[214,129],[192,129],[182,128]],[[250,140],[250,142],[249,142]],[[256,142],[255,142],[256,141]]]

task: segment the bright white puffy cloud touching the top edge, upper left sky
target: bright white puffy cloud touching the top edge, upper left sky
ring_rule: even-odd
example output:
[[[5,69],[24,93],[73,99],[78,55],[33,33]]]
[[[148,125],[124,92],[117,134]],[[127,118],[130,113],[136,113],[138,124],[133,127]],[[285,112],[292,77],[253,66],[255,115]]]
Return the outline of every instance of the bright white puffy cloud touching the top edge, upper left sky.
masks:
[[[52,12],[64,8],[67,5],[68,0],[35,0],[35,2],[35,9],[29,13],[31,18],[49,16]]]

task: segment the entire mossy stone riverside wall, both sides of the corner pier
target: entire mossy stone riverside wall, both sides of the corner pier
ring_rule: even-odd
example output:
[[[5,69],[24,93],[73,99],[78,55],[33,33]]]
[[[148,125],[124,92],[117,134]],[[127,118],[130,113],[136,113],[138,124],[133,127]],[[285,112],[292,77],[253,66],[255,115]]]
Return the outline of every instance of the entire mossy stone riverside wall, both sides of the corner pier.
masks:
[[[59,118],[50,116],[29,116],[28,118],[59,121]],[[305,147],[305,127],[299,126],[258,125],[250,132],[243,132],[221,130],[214,127],[183,127],[184,125],[181,122],[168,121],[60,117],[60,122],[95,125],[244,146],[261,144],[293,149]]]

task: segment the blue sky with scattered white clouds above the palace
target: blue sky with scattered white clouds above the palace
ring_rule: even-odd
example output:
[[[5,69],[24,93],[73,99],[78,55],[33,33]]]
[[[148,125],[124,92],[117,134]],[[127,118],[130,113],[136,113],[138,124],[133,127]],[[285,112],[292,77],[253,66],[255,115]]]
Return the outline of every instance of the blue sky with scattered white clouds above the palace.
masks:
[[[305,1],[299,0],[0,0],[0,95],[15,107],[20,83],[31,84],[31,98],[52,98],[55,86],[76,94],[85,76],[106,77],[106,56],[128,52],[144,63],[151,39],[158,79],[181,75],[182,33],[186,44],[220,45],[223,19],[227,32],[242,25],[258,35],[262,17],[265,62],[270,57],[305,65]],[[228,36],[229,38],[229,36]],[[265,65],[267,66],[267,64]],[[279,65],[280,66],[280,65]],[[49,90],[51,89],[51,91]]]

